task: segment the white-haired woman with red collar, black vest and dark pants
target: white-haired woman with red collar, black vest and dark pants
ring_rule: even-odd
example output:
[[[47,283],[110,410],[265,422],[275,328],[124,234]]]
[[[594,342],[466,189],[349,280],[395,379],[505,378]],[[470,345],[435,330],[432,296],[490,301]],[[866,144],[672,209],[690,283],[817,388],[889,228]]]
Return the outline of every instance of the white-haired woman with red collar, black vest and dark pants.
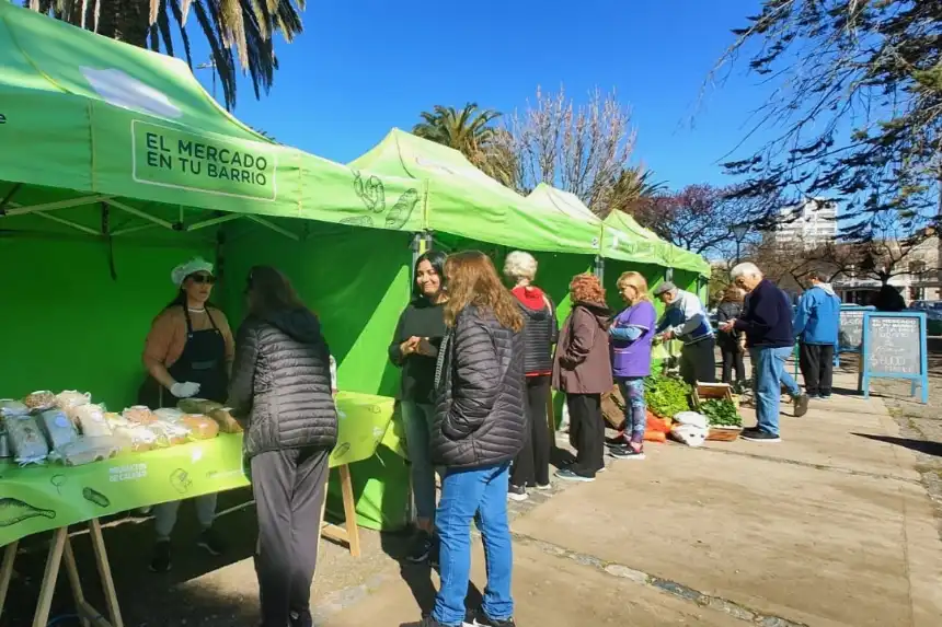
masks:
[[[550,427],[547,404],[553,374],[553,345],[559,338],[555,306],[547,294],[532,286],[537,260],[529,253],[515,251],[507,255],[504,276],[515,285],[512,293],[520,301],[524,313],[524,342],[527,348],[527,414],[529,431],[524,449],[510,468],[508,498],[527,499],[527,488],[547,490],[550,486]]]

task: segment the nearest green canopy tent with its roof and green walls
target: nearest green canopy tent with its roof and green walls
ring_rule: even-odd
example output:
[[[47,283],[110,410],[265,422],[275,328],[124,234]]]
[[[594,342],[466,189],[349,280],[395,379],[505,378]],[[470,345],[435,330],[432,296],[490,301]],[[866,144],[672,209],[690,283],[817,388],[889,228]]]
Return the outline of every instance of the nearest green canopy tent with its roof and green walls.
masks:
[[[217,262],[233,325],[249,268],[286,270],[321,316],[341,387],[391,394],[386,347],[423,205],[411,178],[268,141],[179,60],[0,2],[3,396],[80,388],[131,404],[170,270],[197,255]],[[395,489],[366,499],[360,521],[402,522],[402,461],[371,463],[382,479],[354,477]]]

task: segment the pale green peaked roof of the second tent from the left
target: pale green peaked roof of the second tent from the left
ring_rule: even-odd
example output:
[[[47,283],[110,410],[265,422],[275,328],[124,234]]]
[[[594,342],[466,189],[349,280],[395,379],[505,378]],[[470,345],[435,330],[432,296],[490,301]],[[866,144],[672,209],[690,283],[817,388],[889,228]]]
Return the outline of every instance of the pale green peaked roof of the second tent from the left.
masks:
[[[425,224],[433,231],[529,251],[598,252],[598,227],[540,211],[459,151],[398,128],[351,166],[427,182]]]

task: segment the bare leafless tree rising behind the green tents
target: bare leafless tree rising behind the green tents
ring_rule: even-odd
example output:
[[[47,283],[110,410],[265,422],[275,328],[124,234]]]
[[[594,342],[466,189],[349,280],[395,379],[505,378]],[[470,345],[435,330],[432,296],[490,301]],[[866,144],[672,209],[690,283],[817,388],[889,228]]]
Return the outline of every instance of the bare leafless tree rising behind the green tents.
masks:
[[[518,191],[548,183],[575,194],[596,213],[613,205],[635,142],[631,113],[614,92],[595,90],[578,106],[563,89],[551,94],[538,88],[532,104],[506,118],[505,131],[495,150],[513,155]]]

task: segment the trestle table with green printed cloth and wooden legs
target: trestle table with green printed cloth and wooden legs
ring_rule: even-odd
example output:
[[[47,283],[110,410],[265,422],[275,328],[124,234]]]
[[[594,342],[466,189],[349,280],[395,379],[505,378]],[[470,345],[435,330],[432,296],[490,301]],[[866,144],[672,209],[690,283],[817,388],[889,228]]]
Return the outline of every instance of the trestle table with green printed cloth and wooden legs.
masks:
[[[344,527],[322,524],[322,533],[345,542],[359,555],[359,536],[349,464],[371,457],[380,442],[400,450],[395,434],[388,434],[394,400],[367,394],[337,395],[338,438],[331,454],[344,497]],[[88,522],[92,547],[112,627],[120,627],[120,611],[114,592],[111,567],[97,519],[108,514],[189,499],[249,486],[243,472],[242,434],[219,434],[147,453],[129,453],[84,466],[18,467],[0,464],[0,546],[5,545],[0,566],[0,612],[7,597],[20,538],[54,531],[46,572],[33,625],[45,627],[61,562],[84,625],[108,625],[103,615],[84,601],[68,527]]]

